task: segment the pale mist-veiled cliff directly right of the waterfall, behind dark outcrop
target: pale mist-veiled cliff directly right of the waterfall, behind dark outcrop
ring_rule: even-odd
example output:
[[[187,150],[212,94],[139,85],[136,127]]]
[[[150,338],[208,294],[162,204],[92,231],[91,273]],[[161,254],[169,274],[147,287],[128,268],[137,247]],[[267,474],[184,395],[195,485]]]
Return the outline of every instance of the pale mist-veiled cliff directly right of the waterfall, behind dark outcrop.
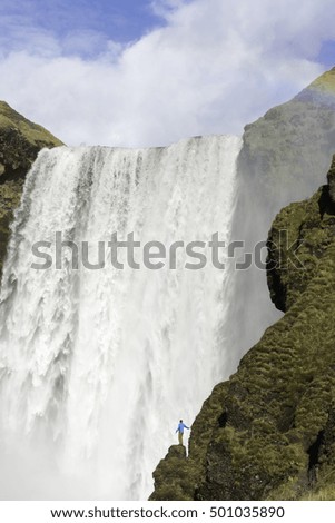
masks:
[[[246,126],[231,234],[234,240],[244,241],[240,256],[253,253],[255,245],[266,239],[283,207],[309,198],[324,184],[334,151],[335,68],[290,101]],[[242,355],[280,318],[269,304],[265,272],[255,266],[234,275],[231,295],[244,299],[233,300],[228,324],[234,325],[238,318],[244,328],[230,333],[230,374]]]

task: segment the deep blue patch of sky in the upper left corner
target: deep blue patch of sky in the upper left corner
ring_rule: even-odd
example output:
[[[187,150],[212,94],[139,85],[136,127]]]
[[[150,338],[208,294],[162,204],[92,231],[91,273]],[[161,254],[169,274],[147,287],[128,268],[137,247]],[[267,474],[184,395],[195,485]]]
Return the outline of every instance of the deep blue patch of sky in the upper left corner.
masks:
[[[159,9],[148,0],[2,0],[0,3],[2,52],[27,49],[40,33],[62,42],[63,53],[89,58],[104,51],[109,40],[130,43],[164,24]],[[73,45],[77,39],[81,39],[81,46]]]

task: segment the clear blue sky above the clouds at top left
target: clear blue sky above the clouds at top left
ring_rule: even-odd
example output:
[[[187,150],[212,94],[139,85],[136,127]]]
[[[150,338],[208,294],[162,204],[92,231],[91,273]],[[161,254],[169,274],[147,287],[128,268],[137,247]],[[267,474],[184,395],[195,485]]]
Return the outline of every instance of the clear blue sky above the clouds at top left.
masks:
[[[126,43],[164,23],[147,0],[2,0],[0,16],[2,34],[14,36],[9,48],[18,43],[18,28],[22,39],[24,29],[28,36],[39,28],[59,39],[91,32]]]

